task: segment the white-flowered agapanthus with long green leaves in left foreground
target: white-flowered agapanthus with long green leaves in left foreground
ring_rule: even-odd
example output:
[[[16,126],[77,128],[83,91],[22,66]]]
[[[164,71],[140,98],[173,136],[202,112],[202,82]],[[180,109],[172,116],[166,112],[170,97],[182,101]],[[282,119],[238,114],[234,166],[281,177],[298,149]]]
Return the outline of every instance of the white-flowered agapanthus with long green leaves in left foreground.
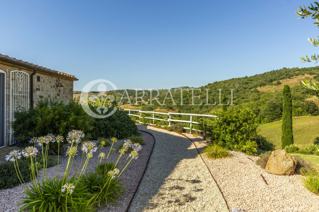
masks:
[[[19,181],[25,189],[23,200],[19,203],[23,207],[19,211],[94,211],[101,205],[106,206],[108,201],[116,204],[117,199],[124,195],[122,191],[125,188],[122,186],[119,177],[131,160],[137,159],[141,146],[129,145],[129,142],[125,141],[126,146],[119,150],[120,154],[116,163],[107,166],[107,164],[110,164],[108,160],[115,152],[112,147],[117,139],[111,139],[112,147],[107,153],[102,151],[106,145],[105,142],[100,142],[99,146],[90,141],[82,142],[84,136],[82,131],[77,130],[69,132],[65,140],[62,136],[55,137],[48,134],[47,136],[32,138],[31,142],[34,146],[26,147],[22,152],[14,150],[9,153],[6,159],[13,162]],[[70,144],[66,151],[68,156],[66,168],[63,173],[57,171],[56,176],[49,178],[47,173],[49,145],[56,142],[59,148],[60,142],[63,141]],[[37,159],[37,156],[39,157],[37,145],[42,149],[41,160]],[[80,145],[81,148],[78,148]],[[128,152],[128,147],[132,148],[131,152]],[[81,149],[82,154],[79,149]],[[99,159],[96,164],[96,171],[95,173],[87,173],[86,168],[90,166],[89,161],[98,149]],[[120,158],[125,153],[129,154],[125,162],[119,165]],[[74,157],[78,154],[82,155],[82,158],[80,166],[76,168]],[[19,169],[18,160],[22,156],[31,162],[31,184],[25,184],[23,179],[25,175],[22,175]],[[58,160],[59,157],[58,154]],[[39,161],[43,163],[40,164]],[[121,166],[121,168],[117,168],[118,166]],[[40,168],[42,168],[42,174],[38,171]],[[71,169],[74,172],[73,175],[70,175]]]

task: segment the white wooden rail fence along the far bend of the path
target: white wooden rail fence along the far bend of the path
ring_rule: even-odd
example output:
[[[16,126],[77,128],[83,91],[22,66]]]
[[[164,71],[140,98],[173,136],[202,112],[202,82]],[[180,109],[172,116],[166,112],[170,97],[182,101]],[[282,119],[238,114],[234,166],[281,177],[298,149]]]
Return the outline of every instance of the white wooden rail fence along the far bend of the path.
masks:
[[[200,130],[196,130],[192,128],[192,124],[199,124],[198,122],[194,122],[192,121],[192,117],[193,116],[204,116],[204,117],[216,117],[217,116],[213,116],[213,115],[204,115],[204,114],[192,114],[192,113],[161,113],[161,112],[154,112],[154,111],[142,111],[142,110],[133,110],[133,109],[122,109],[119,108],[120,110],[127,110],[129,111],[129,116],[135,116],[138,118],[146,118],[146,119],[152,119],[153,120],[153,124],[149,124],[149,125],[155,125],[154,124],[154,120],[158,120],[158,121],[166,121],[168,122],[168,126],[171,126],[171,122],[184,122],[184,123],[189,123],[189,127],[184,127],[184,129],[188,129],[190,130],[190,132],[193,131],[200,131]],[[140,115],[135,115],[135,114],[131,114],[131,111],[137,112]],[[152,117],[142,117],[142,113],[152,113]],[[163,115],[167,115],[168,119],[160,119],[160,118],[154,118],[154,114],[163,114]],[[176,114],[176,115],[187,115],[190,116],[190,120],[177,120],[177,119],[171,119],[172,114]],[[143,122],[141,122],[140,120],[135,120],[136,122],[143,124]],[[163,125],[161,125],[162,127],[164,127]]]

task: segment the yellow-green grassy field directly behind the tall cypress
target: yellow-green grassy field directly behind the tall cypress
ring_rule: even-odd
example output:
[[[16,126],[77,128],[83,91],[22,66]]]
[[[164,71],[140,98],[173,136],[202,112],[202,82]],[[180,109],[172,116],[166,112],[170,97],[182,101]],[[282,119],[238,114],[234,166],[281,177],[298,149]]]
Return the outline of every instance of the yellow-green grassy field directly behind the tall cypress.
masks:
[[[261,135],[273,142],[277,149],[281,149],[281,124],[282,121],[262,124],[259,126]],[[319,136],[319,116],[303,116],[293,118],[294,144],[305,147],[311,140]]]

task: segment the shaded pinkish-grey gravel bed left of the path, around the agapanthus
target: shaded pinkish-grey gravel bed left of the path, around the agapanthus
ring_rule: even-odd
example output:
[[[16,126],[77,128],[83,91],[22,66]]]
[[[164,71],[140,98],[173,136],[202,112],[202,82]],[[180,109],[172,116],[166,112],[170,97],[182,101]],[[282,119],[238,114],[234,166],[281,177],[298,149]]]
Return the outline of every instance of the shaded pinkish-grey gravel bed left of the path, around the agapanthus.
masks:
[[[124,172],[121,175],[121,179],[123,182],[123,185],[125,186],[126,189],[128,189],[127,191],[123,192],[126,196],[119,199],[118,200],[118,205],[117,206],[113,206],[108,204],[108,206],[106,208],[99,208],[97,211],[98,212],[104,212],[104,211],[118,211],[118,212],[122,212],[125,211],[126,208],[129,206],[129,203],[133,197],[133,194],[136,190],[136,187],[138,185],[138,182],[140,181],[143,172],[145,170],[145,166],[147,164],[147,160],[149,158],[149,155],[152,151],[152,146],[154,143],[154,139],[151,135],[145,133],[145,132],[141,132],[146,144],[142,146],[141,151],[139,152],[139,156],[138,159],[136,160],[132,160],[131,163],[129,164],[129,166],[127,166],[127,168],[124,170]],[[120,144],[121,141],[118,141],[117,143],[115,143],[113,145],[113,148],[117,149],[117,146]],[[101,152],[106,152],[108,153],[110,149],[109,147],[105,147],[102,149]],[[98,154],[99,152],[95,152],[93,154],[93,158],[90,159],[90,170],[94,171],[96,164],[97,164],[97,160],[98,160]],[[116,162],[116,158],[119,155],[118,152],[114,152],[112,155],[112,159],[110,161],[112,162]],[[124,155],[125,156],[125,155]],[[120,166],[122,165],[122,163],[125,161],[126,157],[122,157],[119,161]],[[80,165],[81,162],[81,155],[77,155],[74,158],[74,164],[76,164],[76,166]],[[59,175],[60,173],[62,174],[65,170],[66,167],[66,163],[67,163],[67,159],[66,157],[61,158],[60,157],[60,163],[59,163]],[[87,167],[87,170],[89,167]],[[48,168],[48,175],[50,177],[56,176],[56,171],[57,171],[57,166],[52,166],[50,168]],[[73,175],[75,173],[74,168],[71,169],[70,171],[70,175]],[[30,183],[30,182],[29,182]],[[27,183],[28,184],[28,183]],[[22,187],[22,185],[13,187],[11,189],[2,189],[0,190],[0,211],[18,211],[19,206],[17,206],[17,204],[20,202],[20,197],[22,197],[22,195],[24,194],[24,189]]]

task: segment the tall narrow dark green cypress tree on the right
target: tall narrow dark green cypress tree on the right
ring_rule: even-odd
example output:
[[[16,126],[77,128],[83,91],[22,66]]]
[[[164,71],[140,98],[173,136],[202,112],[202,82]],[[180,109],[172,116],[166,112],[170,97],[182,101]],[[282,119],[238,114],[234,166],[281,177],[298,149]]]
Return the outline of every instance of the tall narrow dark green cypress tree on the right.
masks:
[[[283,111],[281,126],[281,148],[293,144],[293,118],[292,118],[292,100],[289,85],[284,85],[283,93]]]

